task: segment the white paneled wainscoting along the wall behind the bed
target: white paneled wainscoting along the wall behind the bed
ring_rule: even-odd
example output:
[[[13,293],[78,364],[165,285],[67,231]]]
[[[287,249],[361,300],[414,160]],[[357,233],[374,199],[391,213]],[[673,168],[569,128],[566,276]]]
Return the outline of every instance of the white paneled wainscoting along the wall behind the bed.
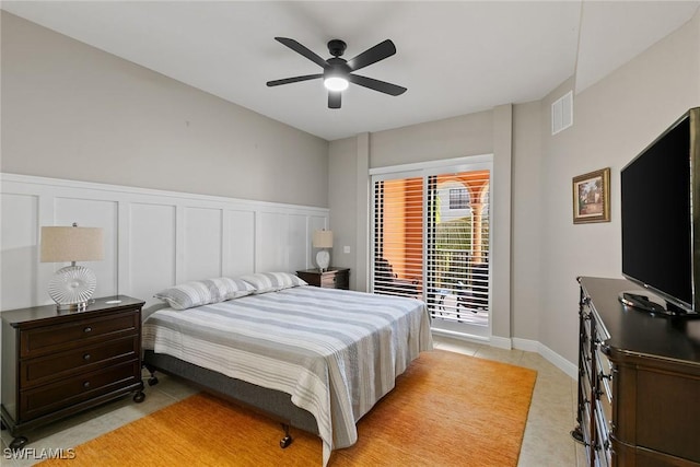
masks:
[[[328,209],[0,174],[0,310],[49,304],[63,264],[42,264],[43,225],[104,229],[105,258],[85,262],[95,296],[153,294],[188,280],[315,267],[311,236]]]

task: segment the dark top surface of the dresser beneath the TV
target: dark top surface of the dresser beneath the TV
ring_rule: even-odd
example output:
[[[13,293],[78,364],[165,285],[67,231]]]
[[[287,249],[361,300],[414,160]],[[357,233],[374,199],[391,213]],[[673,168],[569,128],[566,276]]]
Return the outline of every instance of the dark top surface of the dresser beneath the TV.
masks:
[[[700,318],[653,315],[623,305],[620,292],[644,291],[626,279],[580,278],[617,351],[700,365]]]

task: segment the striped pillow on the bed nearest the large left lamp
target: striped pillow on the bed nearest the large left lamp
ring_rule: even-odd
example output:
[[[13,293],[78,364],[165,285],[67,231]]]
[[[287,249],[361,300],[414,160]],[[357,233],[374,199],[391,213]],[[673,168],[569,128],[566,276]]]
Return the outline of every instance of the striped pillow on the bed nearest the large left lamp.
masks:
[[[253,292],[253,287],[241,279],[217,278],[185,282],[162,290],[154,296],[175,310],[187,310],[237,299]]]

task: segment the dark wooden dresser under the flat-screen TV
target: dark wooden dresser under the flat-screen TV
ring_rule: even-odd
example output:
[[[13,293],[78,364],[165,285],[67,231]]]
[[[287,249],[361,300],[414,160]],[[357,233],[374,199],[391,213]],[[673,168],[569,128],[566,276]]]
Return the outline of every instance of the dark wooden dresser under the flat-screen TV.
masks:
[[[700,319],[623,306],[623,279],[579,278],[579,425],[590,466],[700,466]]]

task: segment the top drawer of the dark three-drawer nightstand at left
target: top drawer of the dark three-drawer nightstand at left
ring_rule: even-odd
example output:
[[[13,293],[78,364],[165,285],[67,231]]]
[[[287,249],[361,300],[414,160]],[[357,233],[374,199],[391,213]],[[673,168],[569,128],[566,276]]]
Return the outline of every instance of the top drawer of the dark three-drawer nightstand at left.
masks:
[[[20,358],[82,347],[90,340],[107,336],[136,335],[140,325],[139,316],[139,311],[128,311],[22,330]]]

